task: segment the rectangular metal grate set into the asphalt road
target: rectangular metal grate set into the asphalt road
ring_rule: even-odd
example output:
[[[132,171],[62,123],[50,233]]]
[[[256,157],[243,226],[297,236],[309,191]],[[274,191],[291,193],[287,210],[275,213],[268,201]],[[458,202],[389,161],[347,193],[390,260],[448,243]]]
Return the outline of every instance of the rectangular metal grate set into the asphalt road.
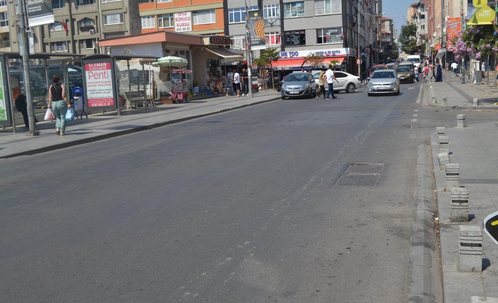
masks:
[[[383,170],[383,163],[352,163],[337,179],[335,185],[377,186]]]

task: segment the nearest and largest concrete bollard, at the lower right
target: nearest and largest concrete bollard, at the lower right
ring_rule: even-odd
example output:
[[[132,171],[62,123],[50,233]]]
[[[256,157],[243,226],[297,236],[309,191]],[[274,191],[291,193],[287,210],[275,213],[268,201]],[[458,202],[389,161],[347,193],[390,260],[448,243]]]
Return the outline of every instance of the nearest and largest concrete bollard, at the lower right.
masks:
[[[460,226],[458,271],[483,271],[483,230],[479,226]]]

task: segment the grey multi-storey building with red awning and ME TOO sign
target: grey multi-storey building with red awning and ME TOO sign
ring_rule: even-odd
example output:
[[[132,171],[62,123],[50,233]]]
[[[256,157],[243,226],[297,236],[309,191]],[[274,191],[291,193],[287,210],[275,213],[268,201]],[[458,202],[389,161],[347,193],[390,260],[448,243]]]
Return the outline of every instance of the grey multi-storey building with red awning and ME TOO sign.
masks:
[[[324,65],[336,60],[350,73],[371,64],[376,48],[376,19],[381,2],[376,0],[225,0],[228,16],[225,34],[233,37],[233,49],[245,50],[245,4],[261,10],[266,47],[281,50],[276,70],[300,69],[310,53],[324,56]],[[360,54],[358,54],[358,51]],[[257,57],[255,51],[254,57]]]

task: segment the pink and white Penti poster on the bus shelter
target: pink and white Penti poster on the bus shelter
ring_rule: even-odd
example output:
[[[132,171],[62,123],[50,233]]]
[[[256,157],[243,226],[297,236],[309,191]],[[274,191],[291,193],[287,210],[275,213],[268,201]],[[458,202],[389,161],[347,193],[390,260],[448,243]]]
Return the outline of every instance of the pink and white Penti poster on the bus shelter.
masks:
[[[113,59],[83,61],[87,108],[116,108]]]

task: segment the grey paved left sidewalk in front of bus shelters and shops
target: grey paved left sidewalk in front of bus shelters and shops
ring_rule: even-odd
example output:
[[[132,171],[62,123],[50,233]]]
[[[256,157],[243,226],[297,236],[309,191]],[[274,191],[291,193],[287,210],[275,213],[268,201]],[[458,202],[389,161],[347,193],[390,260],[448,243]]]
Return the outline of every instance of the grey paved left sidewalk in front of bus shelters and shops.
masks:
[[[88,119],[69,122],[65,136],[55,134],[55,121],[40,121],[36,124],[39,136],[26,136],[24,125],[0,129],[0,158],[29,155],[85,144],[125,134],[139,132],[168,124],[204,117],[250,105],[280,99],[280,93],[273,90],[258,91],[253,97],[220,96],[196,100],[190,103],[164,104],[147,109],[116,111],[89,115]],[[38,120],[42,120],[39,119]]]

